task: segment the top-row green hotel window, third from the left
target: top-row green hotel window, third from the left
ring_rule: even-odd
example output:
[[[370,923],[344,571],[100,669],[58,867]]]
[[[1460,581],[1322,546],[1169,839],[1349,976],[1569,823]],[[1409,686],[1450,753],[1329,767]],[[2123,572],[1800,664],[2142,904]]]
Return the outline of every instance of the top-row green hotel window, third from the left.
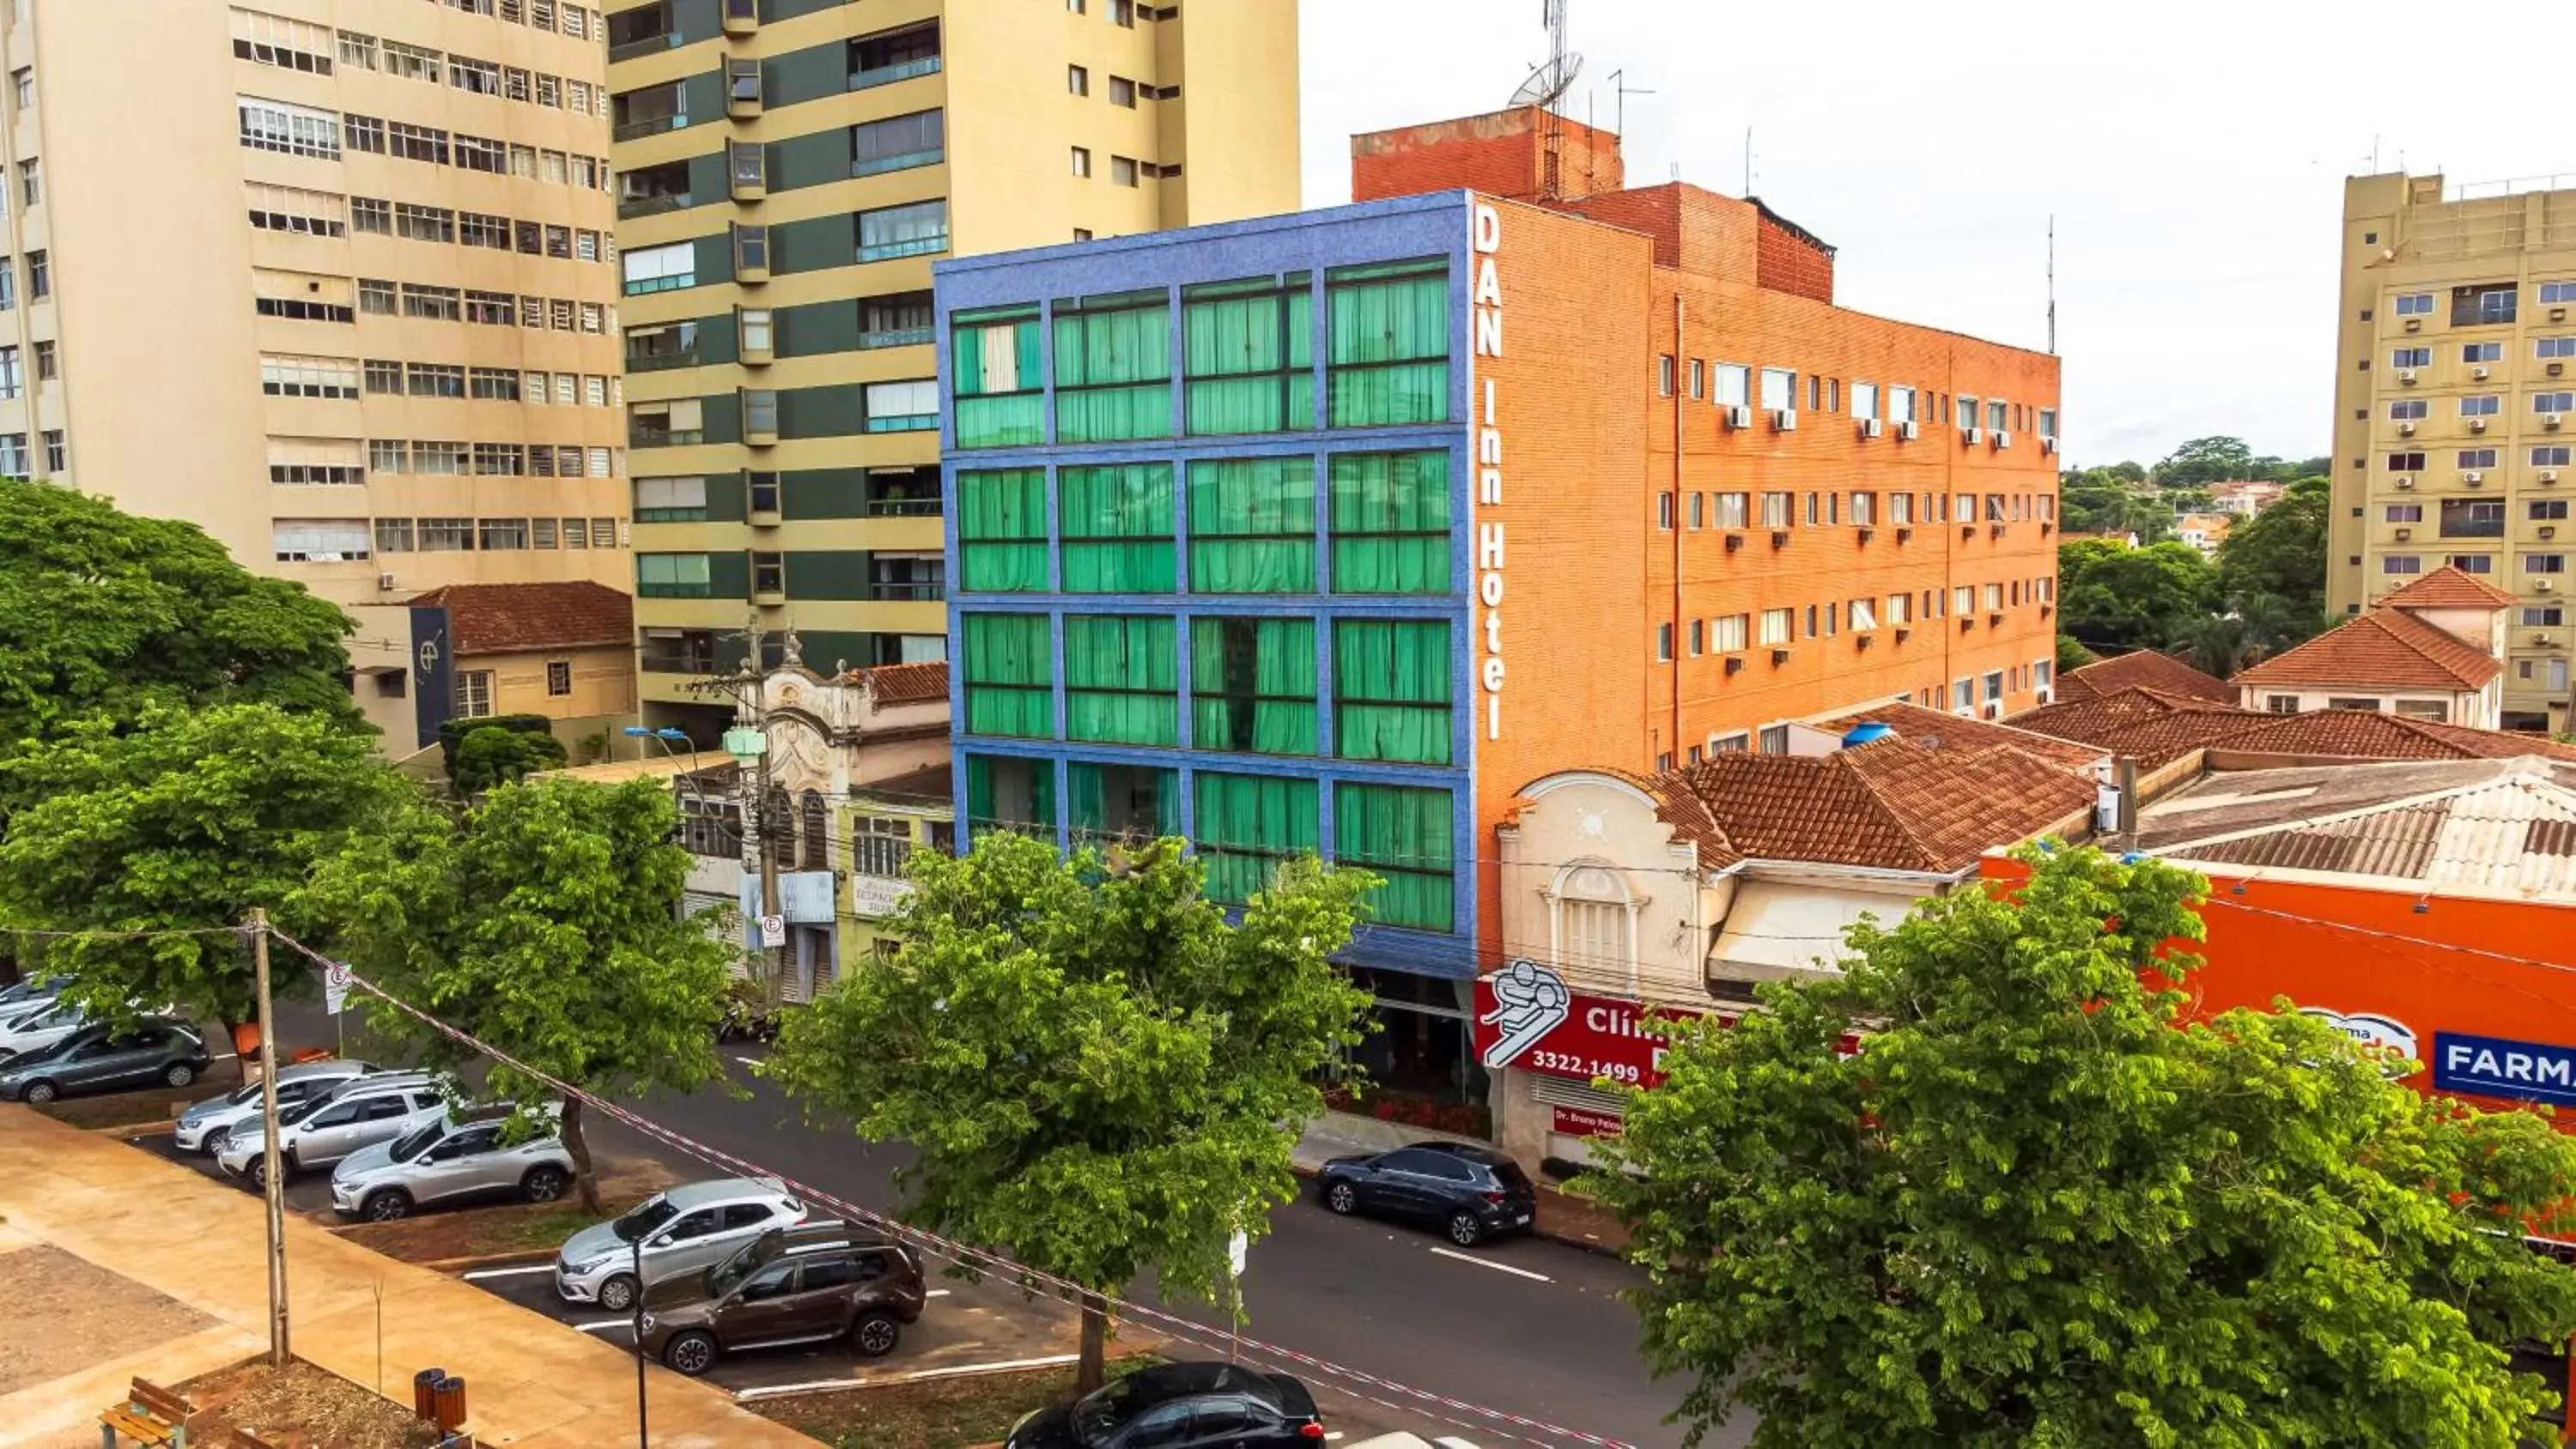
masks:
[[[1180,293],[1193,435],[1314,427],[1314,273]]]

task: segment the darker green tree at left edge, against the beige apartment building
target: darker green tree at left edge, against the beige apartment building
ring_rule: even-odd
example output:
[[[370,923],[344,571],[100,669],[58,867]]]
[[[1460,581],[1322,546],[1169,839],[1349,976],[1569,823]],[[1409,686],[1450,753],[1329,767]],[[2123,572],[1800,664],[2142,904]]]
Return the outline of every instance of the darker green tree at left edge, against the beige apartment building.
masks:
[[[93,715],[129,728],[155,705],[270,703],[363,728],[348,628],[335,605],[242,569],[191,522],[0,481],[0,749]],[[18,777],[18,790],[44,788],[41,772]]]

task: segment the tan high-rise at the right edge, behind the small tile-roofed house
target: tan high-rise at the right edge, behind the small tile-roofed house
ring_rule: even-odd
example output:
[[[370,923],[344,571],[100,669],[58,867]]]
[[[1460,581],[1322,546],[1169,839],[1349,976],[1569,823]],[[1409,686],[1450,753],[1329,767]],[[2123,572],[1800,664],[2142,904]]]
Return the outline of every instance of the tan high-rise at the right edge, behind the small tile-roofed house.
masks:
[[[2326,602],[2442,564],[2517,595],[2504,728],[2568,728],[2576,190],[2344,183]]]

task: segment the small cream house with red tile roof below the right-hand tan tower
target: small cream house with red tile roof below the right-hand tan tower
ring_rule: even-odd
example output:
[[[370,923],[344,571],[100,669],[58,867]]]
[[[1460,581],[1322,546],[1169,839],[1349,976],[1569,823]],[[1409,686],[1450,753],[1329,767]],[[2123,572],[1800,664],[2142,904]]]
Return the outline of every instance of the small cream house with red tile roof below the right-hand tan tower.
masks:
[[[2239,669],[2239,705],[2277,715],[2385,710],[2496,728],[2504,718],[2504,620],[2514,595],[2442,566],[2326,633]]]

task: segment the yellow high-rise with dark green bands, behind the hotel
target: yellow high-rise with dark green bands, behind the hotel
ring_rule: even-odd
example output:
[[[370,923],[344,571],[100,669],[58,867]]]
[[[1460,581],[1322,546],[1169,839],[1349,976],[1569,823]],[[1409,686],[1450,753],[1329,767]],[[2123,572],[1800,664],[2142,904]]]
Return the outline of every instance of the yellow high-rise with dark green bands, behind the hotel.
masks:
[[[933,260],[1298,206],[1296,0],[647,0],[608,62],[641,692],[703,739],[750,618],[945,656]]]

